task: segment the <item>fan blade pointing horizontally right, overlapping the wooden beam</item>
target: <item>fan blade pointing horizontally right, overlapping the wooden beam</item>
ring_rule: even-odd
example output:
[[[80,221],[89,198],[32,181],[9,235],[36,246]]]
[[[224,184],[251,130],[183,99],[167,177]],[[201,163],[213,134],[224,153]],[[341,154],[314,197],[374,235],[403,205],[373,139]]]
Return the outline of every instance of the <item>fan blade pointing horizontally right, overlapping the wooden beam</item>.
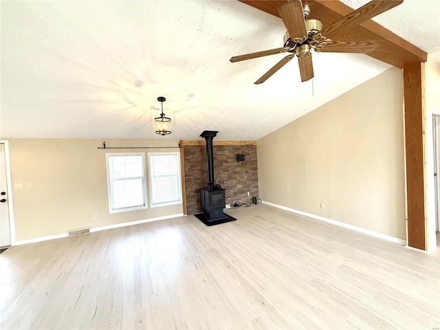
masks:
[[[318,43],[315,48],[315,52],[323,53],[362,53],[368,54],[377,50],[377,47],[382,45],[382,40],[373,41],[333,41],[326,40],[322,43]]]

